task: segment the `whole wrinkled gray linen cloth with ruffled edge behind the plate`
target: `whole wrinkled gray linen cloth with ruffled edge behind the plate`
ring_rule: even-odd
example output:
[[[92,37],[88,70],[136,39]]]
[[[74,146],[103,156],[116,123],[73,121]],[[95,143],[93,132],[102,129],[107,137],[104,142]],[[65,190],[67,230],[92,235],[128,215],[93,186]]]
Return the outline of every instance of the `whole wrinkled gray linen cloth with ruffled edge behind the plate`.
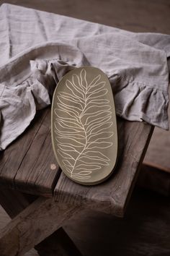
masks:
[[[169,129],[170,36],[2,4],[0,7],[0,150],[50,105],[66,72],[94,66],[107,74],[117,115]]]

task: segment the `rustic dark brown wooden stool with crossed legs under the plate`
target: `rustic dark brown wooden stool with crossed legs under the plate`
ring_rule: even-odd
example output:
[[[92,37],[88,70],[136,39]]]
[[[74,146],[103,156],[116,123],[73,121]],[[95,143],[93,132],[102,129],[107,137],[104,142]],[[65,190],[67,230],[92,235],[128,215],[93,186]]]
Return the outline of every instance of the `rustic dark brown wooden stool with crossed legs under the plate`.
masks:
[[[55,161],[50,108],[37,113],[24,134],[0,156],[0,202],[13,218],[1,231],[1,256],[23,255],[58,229],[58,247],[65,252],[67,247],[68,255],[74,250],[76,256],[79,251],[60,229],[65,221],[84,208],[124,216],[153,127],[118,118],[117,130],[119,160],[115,173],[97,186],[82,186],[71,182]],[[66,243],[61,243],[61,234]],[[36,247],[38,252],[41,246]]]

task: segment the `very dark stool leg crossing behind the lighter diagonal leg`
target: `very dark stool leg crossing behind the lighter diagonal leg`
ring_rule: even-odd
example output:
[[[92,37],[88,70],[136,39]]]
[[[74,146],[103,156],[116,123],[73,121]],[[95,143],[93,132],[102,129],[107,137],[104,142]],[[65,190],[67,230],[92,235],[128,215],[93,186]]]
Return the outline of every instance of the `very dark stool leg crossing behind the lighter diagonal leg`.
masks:
[[[14,189],[0,189],[0,204],[11,218],[21,213],[36,199],[37,196],[24,194]],[[40,256],[81,256],[81,252],[79,252],[79,249],[76,248],[76,245],[73,244],[63,228],[58,229],[40,244],[37,244],[35,249]]]

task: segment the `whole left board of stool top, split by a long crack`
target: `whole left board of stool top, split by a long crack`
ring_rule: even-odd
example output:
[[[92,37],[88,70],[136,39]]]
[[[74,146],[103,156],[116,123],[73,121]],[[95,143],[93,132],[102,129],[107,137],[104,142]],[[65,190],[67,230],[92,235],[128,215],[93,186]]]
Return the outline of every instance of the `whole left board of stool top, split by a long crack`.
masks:
[[[50,139],[50,108],[40,111],[29,129],[1,155],[0,182],[34,195],[53,196],[60,174]]]

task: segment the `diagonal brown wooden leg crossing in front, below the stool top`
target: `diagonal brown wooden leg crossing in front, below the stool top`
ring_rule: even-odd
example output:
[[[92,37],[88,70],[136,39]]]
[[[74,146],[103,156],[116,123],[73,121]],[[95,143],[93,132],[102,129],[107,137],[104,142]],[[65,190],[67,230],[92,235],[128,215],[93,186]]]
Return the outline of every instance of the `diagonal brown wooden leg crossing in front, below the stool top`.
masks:
[[[1,230],[1,256],[23,255],[81,210],[84,209],[39,197]]]

